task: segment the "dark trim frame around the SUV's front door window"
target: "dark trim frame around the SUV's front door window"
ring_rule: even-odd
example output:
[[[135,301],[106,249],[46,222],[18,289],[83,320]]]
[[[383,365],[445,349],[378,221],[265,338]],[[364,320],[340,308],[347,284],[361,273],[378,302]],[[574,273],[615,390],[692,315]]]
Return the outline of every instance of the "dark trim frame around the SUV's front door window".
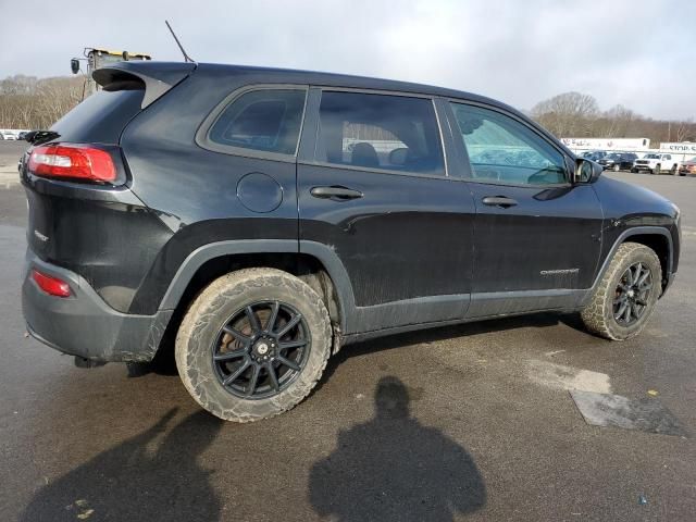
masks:
[[[463,156],[465,158],[465,163],[468,169],[465,170],[464,174],[462,175],[462,179],[469,182],[469,183],[477,183],[477,184],[483,184],[483,185],[498,185],[498,186],[506,186],[506,187],[529,187],[529,188],[539,188],[539,187],[549,187],[549,188],[560,188],[560,187],[570,187],[573,186],[572,183],[572,176],[571,176],[571,172],[569,170],[569,161],[572,162],[572,158],[570,158],[568,156],[568,153],[561,148],[559,147],[558,144],[554,142],[552,140],[550,140],[547,136],[545,136],[543,133],[540,133],[537,128],[535,128],[533,125],[530,125],[529,122],[522,120],[520,116],[518,116],[514,113],[511,113],[509,111],[506,111],[502,108],[496,107],[496,105],[492,105],[489,103],[482,103],[478,101],[474,101],[474,100],[467,100],[467,99],[461,99],[461,98],[443,98],[443,100],[446,102],[447,105],[447,117],[450,119],[450,127],[452,128],[452,139],[455,140],[455,146],[459,147],[460,150],[463,152]],[[497,112],[498,114],[502,114],[504,116],[510,117],[512,120],[514,120],[515,122],[520,123],[521,125],[523,125],[524,127],[526,127],[529,130],[531,130],[532,133],[534,133],[539,139],[543,139],[546,144],[548,144],[549,146],[551,146],[554,149],[556,149],[561,157],[563,158],[563,171],[566,174],[566,182],[564,183],[549,183],[549,184],[545,184],[545,185],[532,185],[529,183],[513,183],[513,182],[508,182],[508,181],[499,181],[499,179],[488,179],[488,178],[476,178],[473,176],[473,165],[471,163],[471,159],[469,158],[469,149],[467,148],[467,144],[464,142],[464,138],[461,135],[461,132],[459,129],[459,123],[457,122],[457,117],[455,116],[455,111],[451,107],[450,103],[459,103],[462,105],[472,105],[472,107],[478,107],[481,109],[485,109],[492,112]],[[453,132],[456,130],[456,132]]]

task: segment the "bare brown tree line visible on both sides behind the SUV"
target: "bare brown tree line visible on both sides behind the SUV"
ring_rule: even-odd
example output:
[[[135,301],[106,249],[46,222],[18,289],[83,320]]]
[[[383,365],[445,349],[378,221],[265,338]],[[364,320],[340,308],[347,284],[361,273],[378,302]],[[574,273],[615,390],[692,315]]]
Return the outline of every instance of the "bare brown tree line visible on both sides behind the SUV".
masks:
[[[82,76],[9,76],[0,80],[0,128],[48,128],[79,103],[83,88]],[[581,92],[540,101],[531,113],[559,138],[649,138],[652,146],[660,141],[696,141],[693,119],[652,120],[623,105],[601,111],[595,98]]]

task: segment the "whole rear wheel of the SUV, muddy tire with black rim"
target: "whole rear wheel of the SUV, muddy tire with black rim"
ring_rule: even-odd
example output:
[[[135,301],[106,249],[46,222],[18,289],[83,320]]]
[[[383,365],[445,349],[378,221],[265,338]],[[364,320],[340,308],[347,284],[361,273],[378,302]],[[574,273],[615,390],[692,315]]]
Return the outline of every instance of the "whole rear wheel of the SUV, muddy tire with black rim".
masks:
[[[246,269],[211,283],[176,337],[186,389],[227,421],[268,419],[298,405],[331,352],[328,312],[320,296],[275,269]]]

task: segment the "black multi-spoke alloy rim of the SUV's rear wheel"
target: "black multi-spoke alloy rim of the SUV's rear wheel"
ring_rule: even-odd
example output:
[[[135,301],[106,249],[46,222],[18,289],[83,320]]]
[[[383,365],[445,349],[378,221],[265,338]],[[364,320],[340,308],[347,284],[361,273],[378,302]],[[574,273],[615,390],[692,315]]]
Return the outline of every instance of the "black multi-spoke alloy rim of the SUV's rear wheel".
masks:
[[[237,310],[212,346],[215,375],[245,399],[285,390],[301,373],[311,349],[304,318],[282,301],[260,301]]]

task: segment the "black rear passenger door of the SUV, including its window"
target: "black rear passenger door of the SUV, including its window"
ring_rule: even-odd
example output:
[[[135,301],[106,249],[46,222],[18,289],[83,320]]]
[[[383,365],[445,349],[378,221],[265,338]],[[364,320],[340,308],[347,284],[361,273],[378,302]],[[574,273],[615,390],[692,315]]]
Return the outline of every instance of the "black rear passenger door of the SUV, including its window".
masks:
[[[298,161],[300,251],[327,247],[345,271],[347,333],[464,313],[474,204],[448,176],[442,136],[431,98],[311,89]]]

